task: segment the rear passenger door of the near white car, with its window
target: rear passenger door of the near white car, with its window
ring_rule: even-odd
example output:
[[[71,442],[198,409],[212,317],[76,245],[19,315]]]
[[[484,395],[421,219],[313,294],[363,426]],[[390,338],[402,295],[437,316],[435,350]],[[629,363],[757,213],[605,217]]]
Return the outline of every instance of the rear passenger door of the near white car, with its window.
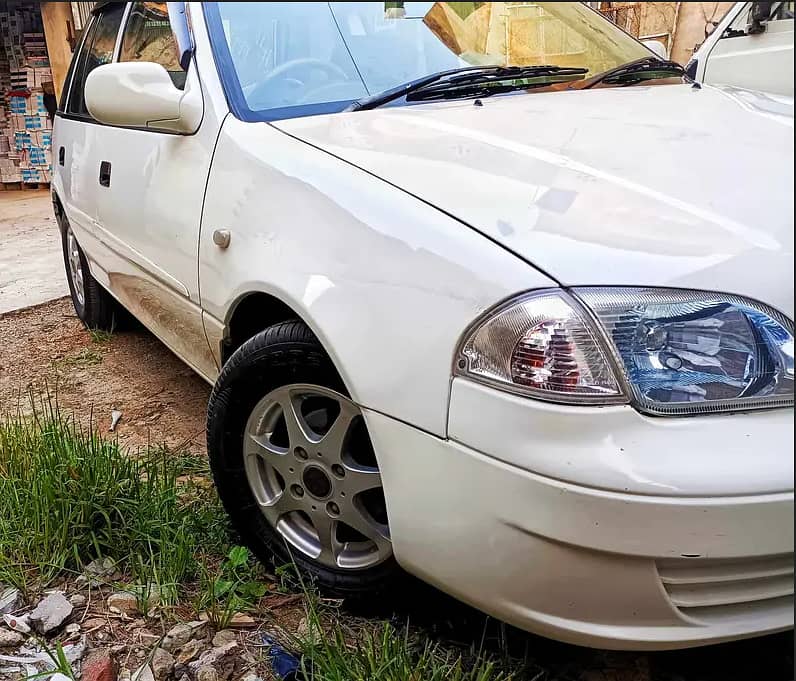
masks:
[[[92,16],[70,66],[53,134],[55,189],[92,269],[97,252],[96,167],[105,126],[89,114],[84,85],[93,69],[112,61],[123,17],[121,4],[106,5]]]

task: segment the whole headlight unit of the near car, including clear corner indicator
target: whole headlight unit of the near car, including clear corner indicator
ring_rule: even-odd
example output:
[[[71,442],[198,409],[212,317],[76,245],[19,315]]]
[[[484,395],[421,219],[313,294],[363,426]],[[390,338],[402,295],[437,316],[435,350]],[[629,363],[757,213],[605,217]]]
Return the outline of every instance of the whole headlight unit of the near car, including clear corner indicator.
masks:
[[[477,322],[455,372],[550,401],[632,401],[652,414],[792,405],[793,323],[703,291],[544,290]]]

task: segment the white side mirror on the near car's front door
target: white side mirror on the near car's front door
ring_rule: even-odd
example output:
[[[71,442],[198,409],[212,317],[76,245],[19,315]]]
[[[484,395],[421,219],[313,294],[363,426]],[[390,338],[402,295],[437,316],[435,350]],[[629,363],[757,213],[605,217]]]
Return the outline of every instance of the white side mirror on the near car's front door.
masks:
[[[202,120],[198,87],[176,88],[168,71],[152,62],[98,66],[86,78],[85,99],[89,113],[108,125],[189,135]]]

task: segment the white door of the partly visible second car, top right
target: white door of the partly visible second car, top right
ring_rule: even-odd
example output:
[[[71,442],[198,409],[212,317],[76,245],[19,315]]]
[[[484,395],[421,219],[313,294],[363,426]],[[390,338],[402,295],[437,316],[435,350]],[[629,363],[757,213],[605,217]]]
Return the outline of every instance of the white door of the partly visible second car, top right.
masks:
[[[771,5],[762,31],[749,31],[753,5]],[[793,96],[793,2],[747,3],[716,41],[706,83]]]

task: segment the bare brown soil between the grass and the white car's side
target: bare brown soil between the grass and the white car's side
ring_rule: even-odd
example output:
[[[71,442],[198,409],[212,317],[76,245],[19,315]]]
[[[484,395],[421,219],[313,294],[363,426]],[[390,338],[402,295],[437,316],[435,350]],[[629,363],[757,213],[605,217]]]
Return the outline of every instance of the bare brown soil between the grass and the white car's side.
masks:
[[[0,337],[0,412],[49,394],[100,432],[120,411],[120,444],[204,453],[210,386],[144,329],[92,338],[61,298],[0,315]]]

